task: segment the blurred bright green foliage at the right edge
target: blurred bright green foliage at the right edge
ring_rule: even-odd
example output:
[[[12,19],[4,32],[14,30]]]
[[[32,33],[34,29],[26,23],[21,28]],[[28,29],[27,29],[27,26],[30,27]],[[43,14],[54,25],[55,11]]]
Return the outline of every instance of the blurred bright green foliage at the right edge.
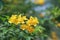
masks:
[[[52,21],[60,22],[60,19],[59,19],[59,17],[60,17],[60,8],[55,7],[52,10],[48,10],[48,11],[50,12]]]

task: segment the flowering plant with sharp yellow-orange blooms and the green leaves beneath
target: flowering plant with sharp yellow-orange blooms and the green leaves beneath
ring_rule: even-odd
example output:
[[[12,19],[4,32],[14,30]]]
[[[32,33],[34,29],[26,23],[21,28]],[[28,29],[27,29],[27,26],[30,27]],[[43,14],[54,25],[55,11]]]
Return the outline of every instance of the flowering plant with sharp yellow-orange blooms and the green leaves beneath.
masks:
[[[5,16],[5,18],[3,19],[4,26],[1,27],[0,30],[4,29],[4,32],[1,32],[1,39],[35,40],[35,36],[40,37],[42,35],[45,35],[45,28],[39,24],[39,20],[37,17],[30,16],[28,18],[20,14],[12,15],[11,17]],[[5,38],[2,38],[3,36]]]

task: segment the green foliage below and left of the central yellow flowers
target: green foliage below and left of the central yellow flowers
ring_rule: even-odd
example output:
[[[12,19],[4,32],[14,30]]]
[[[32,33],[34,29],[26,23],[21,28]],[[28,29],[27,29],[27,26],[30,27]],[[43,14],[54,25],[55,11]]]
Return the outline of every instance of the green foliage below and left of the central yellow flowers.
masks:
[[[6,15],[4,17],[0,16],[0,20],[1,20],[0,40],[8,40],[8,39],[9,40],[24,40],[24,39],[26,39],[26,40],[34,39],[35,40],[35,36],[37,36],[37,37],[41,36],[43,34],[43,30],[45,30],[45,28],[43,28],[42,26],[39,26],[39,25],[36,25],[34,27],[34,32],[32,31],[32,29],[29,29],[31,31],[23,30],[23,29],[20,29],[20,25],[23,25],[23,24],[16,25],[14,23],[9,23],[8,19],[10,19],[9,16],[6,16]],[[35,20],[35,19],[33,19],[33,20]],[[37,33],[39,33],[39,34],[37,34]]]

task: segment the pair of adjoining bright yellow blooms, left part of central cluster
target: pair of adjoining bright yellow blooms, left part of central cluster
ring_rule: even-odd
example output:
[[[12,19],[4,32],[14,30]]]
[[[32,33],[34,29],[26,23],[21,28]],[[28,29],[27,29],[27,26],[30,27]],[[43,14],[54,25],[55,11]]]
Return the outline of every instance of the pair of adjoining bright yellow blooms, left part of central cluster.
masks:
[[[19,24],[24,23],[24,21],[27,20],[26,16],[21,15],[12,15],[9,19],[9,23]]]

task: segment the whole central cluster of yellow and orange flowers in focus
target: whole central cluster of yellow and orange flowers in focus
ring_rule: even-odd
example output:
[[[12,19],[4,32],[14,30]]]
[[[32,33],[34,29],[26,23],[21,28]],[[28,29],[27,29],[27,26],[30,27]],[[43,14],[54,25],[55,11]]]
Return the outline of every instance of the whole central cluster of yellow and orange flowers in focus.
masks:
[[[34,31],[34,27],[32,26],[36,26],[39,23],[37,17],[31,16],[29,19],[27,19],[26,16],[22,15],[12,15],[8,22],[16,25],[21,23],[20,29],[28,30],[29,33]]]

